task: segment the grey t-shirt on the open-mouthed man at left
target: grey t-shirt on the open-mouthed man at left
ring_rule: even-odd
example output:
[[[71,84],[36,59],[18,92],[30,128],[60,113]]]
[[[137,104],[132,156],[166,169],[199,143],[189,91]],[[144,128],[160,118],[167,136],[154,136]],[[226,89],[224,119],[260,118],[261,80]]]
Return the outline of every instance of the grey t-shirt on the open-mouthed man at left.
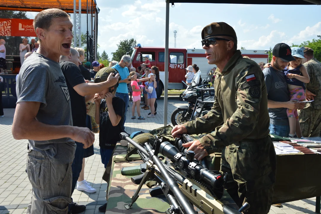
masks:
[[[40,102],[36,119],[48,125],[72,126],[70,96],[60,64],[34,52],[22,64],[16,85],[19,102]],[[29,140],[32,150],[47,155],[52,163],[74,160],[75,142],[70,138]]]

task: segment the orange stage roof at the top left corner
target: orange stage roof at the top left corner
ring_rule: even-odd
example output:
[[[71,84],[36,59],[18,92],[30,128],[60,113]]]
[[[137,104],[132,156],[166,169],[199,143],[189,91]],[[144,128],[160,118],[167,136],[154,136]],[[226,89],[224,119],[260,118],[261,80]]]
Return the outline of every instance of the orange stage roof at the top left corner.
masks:
[[[96,0],[88,0],[88,6],[94,7],[93,13],[97,6]],[[79,8],[79,1],[76,0],[76,8]],[[0,0],[0,10],[29,11],[40,12],[49,8],[62,9],[67,13],[74,13],[74,0]],[[88,8],[90,10],[91,8]],[[82,13],[87,13],[87,0],[81,1]],[[97,8],[99,12],[99,8]]]

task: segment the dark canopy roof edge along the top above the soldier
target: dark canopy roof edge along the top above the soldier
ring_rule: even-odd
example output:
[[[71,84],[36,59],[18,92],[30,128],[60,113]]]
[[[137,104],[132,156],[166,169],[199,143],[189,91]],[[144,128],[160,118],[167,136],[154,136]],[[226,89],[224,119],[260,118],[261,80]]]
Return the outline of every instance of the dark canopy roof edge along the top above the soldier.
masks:
[[[219,3],[253,5],[321,5],[320,0],[166,0],[169,3]]]

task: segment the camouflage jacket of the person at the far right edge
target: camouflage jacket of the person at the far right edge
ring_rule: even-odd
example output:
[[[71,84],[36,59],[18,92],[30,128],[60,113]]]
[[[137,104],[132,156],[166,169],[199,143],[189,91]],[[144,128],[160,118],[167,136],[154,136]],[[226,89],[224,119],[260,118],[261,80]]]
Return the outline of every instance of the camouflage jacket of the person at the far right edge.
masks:
[[[312,58],[303,64],[308,71],[310,82],[306,84],[309,91],[314,93],[314,101],[307,103],[304,108],[312,107],[315,109],[321,109],[321,62]]]

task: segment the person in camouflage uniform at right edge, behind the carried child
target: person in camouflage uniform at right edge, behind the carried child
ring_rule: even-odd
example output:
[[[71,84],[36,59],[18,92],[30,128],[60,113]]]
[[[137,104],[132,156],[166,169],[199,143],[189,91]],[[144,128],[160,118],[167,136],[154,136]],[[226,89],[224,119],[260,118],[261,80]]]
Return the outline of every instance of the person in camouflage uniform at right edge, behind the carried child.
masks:
[[[304,57],[308,60],[306,67],[310,82],[306,84],[307,98],[314,96],[314,101],[307,103],[299,113],[302,135],[318,137],[321,130],[321,63],[314,58],[313,50],[305,47]]]

